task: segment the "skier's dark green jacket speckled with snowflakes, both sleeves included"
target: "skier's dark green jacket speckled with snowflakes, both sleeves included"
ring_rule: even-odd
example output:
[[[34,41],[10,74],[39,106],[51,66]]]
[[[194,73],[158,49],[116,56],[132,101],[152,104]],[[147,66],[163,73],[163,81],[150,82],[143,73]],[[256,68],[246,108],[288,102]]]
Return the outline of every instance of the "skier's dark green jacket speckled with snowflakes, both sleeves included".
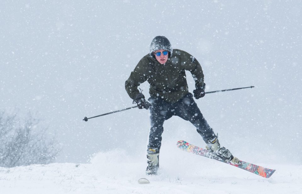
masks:
[[[134,99],[139,93],[137,87],[148,81],[151,97],[161,97],[166,102],[177,102],[188,91],[185,70],[190,71],[195,87],[202,87],[204,74],[199,62],[189,53],[173,49],[173,55],[165,64],[160,64],[155,57],[144,56],[125,82],[128,95]]]

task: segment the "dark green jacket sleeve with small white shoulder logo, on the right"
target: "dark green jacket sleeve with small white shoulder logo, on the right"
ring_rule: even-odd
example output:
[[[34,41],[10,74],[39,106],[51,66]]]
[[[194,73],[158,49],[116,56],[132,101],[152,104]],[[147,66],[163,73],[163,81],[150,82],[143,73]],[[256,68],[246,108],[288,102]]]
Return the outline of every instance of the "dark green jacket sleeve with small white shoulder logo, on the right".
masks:
[[[204,89],[204,73],[197,59],[187,52],[183,52],[182,57],[184,57],[182,60],[184,69],[191,72],[195,81],[195,87]]]

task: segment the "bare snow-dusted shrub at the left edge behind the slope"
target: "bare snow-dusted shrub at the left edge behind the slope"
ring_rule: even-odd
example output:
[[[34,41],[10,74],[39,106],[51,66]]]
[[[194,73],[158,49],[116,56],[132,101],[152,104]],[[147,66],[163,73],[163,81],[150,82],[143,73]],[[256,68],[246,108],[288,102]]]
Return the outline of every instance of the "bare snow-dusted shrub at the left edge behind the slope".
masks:
[[[49,128],[40,123],[30,113],[24,121],[16,114],[0,113],[0,166],[48,164],[55,160],[59,145]]]

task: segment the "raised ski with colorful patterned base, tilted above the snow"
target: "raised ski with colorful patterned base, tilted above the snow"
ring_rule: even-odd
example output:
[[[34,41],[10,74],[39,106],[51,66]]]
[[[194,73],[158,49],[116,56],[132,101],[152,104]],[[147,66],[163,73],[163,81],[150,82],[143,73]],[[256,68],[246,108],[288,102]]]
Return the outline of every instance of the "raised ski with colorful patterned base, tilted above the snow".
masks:
[[[238,164],[233,164],[232,162],[226,162],[226,161],[223,161],[223,160],[219,160],[217,157],[215,157],[215,155],[212,155],[211,152],[209,152],[207,149],[200,148],[198,146],[189,144],[189,143],[187,143],[185,141],[182,141],[182,140],[177,142],[177,147],[182,149],[183,151],[191,152],[191,153],[194,153],[194,154],[197,154],[197,155],[202,155],[202,156],[214,159],[214,160],[218,160],[218,161],[224,162],[226,164],[236,166],[236,167],[241,168],[243,170],[247,170],[249,172],[252,172],[256,175],[259,175],[259,176],[262,176],[262,177],[265,177],[265,178],[271,177],[271,175],[276,171],[276,170],[272,170],[272,169],[269,169],[269,168],[264,168],[262,166],[254,165],[254,164],[251,164],[251,163],[248,163],[248,162],[244,162],[242,160],[239,160]]]

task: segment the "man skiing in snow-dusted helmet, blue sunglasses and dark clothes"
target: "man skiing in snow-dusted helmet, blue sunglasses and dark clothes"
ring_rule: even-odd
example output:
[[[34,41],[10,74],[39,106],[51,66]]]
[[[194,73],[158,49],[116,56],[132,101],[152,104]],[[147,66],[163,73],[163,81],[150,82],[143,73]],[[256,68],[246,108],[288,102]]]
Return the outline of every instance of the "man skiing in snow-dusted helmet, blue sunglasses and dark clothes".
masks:
[[[150,45],[149,54],[145,55],[131,72],[125,82],[128,95],[137,103],[139,109],[150,109],[150,133],[147,148],[147,175],[157,175],[159,168],[159,150],[161,146],[163,124],[173,115],[190,121],[201,135],[206,148],[225,161],[231,161],[233,155],[225,147],[221,147],[217,135],[209,126],[188,91],[185,70],[190,71],[196,89],[196,99],[205,95],[204,74],[199,62],[189,53],[172,49],[165,36],[156,36]],[[148,101],[137,87],[148,81],[150,84]]]

